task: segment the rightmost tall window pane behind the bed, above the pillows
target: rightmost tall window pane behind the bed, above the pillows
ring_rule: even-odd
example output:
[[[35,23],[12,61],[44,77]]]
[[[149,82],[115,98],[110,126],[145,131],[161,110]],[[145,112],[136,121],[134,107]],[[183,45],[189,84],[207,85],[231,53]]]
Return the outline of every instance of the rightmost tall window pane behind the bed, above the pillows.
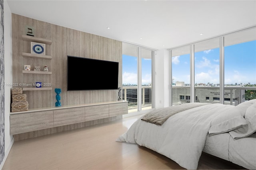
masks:
[[[256,99],[256,28],[225,36],[225,100],[237,105]],[[248,87],[248,89],[240,89]],[[252,88],[252,90],[250,89]]]

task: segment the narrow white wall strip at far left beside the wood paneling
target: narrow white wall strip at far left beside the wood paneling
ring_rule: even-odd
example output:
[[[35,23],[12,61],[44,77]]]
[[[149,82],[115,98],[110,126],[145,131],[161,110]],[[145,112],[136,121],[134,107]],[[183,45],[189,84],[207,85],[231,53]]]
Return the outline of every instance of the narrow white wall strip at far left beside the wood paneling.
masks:
[[[6,0],[4,0],[4,83],[12,83],[12,13]],[[10,152],[13,144],[13,137],[10,135],[10,104],[11,104],[11,88],[4,87],[4,160],[0,165],[0,169],[4,166],[4,162]]]

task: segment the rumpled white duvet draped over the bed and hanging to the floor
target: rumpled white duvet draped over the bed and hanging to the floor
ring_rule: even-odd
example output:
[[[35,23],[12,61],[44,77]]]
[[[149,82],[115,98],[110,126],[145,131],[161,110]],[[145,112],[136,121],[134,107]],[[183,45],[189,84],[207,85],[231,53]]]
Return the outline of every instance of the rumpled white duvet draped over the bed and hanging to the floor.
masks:
[[[172,115],[161,126],[138,119],[116,141],[137,143],[186,169],[197,169],[211,121],[234,107],[223,104],[195,107]]]

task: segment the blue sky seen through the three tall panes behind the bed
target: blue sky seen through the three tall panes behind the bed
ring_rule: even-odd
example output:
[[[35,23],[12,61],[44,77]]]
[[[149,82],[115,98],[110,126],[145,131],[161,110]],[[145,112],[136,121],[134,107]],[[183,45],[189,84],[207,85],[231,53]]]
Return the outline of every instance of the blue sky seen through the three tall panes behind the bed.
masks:
[[[219,48],[195,53],[195,82],[219,83]],[[224,48],[224,83],[256,84],[256,41],[230,45]],[[190,55],[172,58],[174,82],[190,83]]]

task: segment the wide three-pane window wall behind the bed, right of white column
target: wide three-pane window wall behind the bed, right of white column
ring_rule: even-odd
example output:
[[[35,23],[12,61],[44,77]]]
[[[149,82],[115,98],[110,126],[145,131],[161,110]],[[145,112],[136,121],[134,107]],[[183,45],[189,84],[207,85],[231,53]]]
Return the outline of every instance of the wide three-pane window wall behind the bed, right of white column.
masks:
[[[180,63],[183,57],[186,58],[180,49],[189,46],[190,52],[186,53],[190,55],[190,72],[188,73],[188,71],[184,72],[185,64],[177,63]],[[190,102],[194,99],[194,102],[236,106],[256,98],[255,26],[173,48],[170,49],[170,53],[172,105],[182,104],[181,101],[186,99],[190,99]],[[177,71],[178,68],[180,72]],[[178,74],[182,75],[176,76]],[[176,81],[183,82],[183,77],[187,74],[190,75],[190,82],[194,82],[190,83],[190,96],[185,95],[189,93],[186,86],[178,92],[174,91]]]

